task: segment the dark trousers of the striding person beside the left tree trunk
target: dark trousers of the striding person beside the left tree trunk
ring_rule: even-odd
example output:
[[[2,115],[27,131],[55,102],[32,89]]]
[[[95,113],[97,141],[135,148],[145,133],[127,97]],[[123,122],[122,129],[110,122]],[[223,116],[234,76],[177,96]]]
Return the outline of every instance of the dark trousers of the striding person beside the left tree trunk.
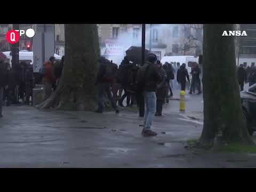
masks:
[[[105,95],[111,102],[111,106],[116,109],[116,102],[111,94],[111,84],[110,83],[100,83],[98,85],[98,110],[103,111],[103,100]]]

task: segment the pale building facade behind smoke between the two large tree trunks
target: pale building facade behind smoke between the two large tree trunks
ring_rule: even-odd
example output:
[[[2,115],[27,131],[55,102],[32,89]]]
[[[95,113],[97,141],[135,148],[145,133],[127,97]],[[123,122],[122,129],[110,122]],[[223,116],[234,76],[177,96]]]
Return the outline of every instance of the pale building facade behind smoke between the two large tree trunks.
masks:
[[[97,26],[101,55],[110,60],[121,62],[130,46],[141,46],[141,24],[97,24]],[[203,25],[146,25],[145,43],[146,49],[155,53],[159,60],[165,55],[198,56],[202,54]]]

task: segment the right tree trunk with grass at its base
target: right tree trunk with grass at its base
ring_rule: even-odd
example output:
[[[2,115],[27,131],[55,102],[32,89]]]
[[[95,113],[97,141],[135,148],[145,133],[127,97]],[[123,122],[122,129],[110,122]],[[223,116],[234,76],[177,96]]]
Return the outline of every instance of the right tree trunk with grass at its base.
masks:
[[[236,77],[234,37],[222,36],[233,24],[205,24],[203,39],[204,128],[200,142],[252,143],[243,118]]]

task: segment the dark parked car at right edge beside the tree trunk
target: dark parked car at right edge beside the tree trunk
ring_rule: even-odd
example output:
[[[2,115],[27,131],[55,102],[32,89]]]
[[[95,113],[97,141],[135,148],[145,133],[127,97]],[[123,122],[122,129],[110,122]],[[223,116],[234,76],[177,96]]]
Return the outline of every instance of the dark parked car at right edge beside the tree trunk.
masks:
[[[247,91],[241,91],[240,97],[247,129],[252,135],[256,131],[256,83],[251,85]]]

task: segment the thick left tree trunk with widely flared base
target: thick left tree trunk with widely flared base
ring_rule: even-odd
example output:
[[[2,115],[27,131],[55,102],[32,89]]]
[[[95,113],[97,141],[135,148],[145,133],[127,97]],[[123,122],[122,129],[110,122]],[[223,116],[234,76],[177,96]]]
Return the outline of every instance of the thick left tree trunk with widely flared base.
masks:
[[[94,110],[99,57],[96,24],[65,24],[65,62],[60,83],[51,97],[37,107]]]

